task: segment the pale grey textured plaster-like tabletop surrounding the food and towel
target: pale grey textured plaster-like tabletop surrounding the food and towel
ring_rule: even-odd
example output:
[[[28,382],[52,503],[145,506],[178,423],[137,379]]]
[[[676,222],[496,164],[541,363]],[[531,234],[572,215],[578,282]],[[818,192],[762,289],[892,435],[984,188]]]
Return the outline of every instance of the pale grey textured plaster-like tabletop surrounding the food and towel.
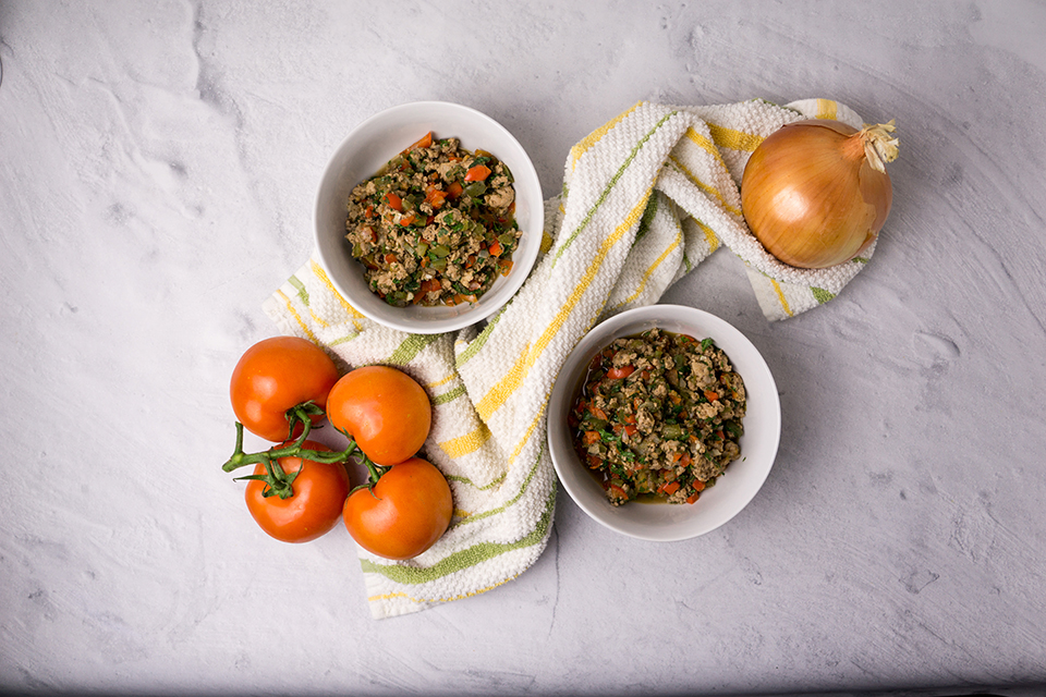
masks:
[[[0,689],[1035,694],[1046,5],[581,7],[0,4]],[[254,528],[218,469],[228,377],[350,127],[460,101],[554,193],[638,99],[820,96],[900,129],[869,268],[773,326],[728,252],[665,298],[780,388],[730,524],[643,543],[562,494],[528,572],[382,622],[344,530]]]

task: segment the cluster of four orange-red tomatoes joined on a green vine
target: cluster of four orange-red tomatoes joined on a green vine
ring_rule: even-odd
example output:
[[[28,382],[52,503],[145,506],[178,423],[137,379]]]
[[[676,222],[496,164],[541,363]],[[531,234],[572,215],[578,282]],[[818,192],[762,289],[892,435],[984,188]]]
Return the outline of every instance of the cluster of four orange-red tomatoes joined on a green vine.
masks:
[[[388,559],[417,557],[450,525],[453,502],[446,477],[416,457],[428,437],[433,407],[410,376],[365,366],[339,376],[327,353],[304,339],[276,337],[241,357],[230,383],[236,448],[227,472],[254,465],[247,510],[268,535],[306,542],[338,519],[364,549]],[[349,439],[341,452],[307,440],[324,418]],[[279,444],[243,452],[243,429]],[[362,453],[362,454],[361,454]],[[350,489],[353,456],[368,472]]]

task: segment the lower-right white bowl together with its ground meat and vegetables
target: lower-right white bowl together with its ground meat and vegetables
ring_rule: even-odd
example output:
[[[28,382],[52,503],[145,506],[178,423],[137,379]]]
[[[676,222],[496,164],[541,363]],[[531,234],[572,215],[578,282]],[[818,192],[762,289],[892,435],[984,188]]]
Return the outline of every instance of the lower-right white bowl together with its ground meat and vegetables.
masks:
[[[650,305],[594,327],[552,389],[548,447],[601,525],[652,541],[709,533],[755,497],[781,433],[777,387],[734,327]]]

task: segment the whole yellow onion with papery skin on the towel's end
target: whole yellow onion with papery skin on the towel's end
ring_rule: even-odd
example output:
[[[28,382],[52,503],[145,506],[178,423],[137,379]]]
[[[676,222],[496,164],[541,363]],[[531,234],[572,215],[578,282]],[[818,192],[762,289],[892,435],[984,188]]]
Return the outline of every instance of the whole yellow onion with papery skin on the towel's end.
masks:
[[[822,269],[867,249],[893,199],[884,167],[897,159],[892,133],[892,121],[858,131],[812,119],[763,140],[744,168],[741,209],[767,252]]]

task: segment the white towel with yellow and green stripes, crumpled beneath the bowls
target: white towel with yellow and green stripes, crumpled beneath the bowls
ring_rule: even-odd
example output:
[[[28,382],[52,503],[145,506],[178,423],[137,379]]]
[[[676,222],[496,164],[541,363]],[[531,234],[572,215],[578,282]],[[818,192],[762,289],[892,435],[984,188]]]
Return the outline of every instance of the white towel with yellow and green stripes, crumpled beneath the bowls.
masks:
[[[597,321],[657,302],[722,245],[745,262],[770,319],[830,299],[861,270],[866,258],[814,271],[787,267],[744,225],[738,182],[747,157],[781,125],[807,117],[861,126],[842,105],[811,99],[638,102],[597,129],[571,149],[562,193],[546,201],[545,244],[531,278],[482,328],[412,335],[372,322],[338,294],[315,256],[266,301],[282,332],[326,346],[345,366],[397,366],[431,398],[423,452],[451,484],[454,517],[411,561],[358,550],[375,617],[485,592],[537,560],[556,504],[549,394]]]

